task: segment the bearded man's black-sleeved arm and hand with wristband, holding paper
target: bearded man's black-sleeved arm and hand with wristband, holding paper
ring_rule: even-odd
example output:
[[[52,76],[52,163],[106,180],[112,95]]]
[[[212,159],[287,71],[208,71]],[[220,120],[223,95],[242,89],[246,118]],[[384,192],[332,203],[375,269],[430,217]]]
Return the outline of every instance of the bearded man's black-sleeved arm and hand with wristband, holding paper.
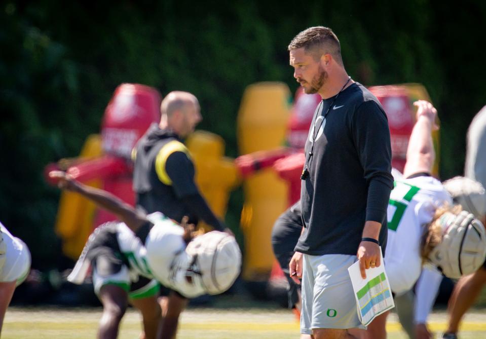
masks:
[[[379,245],[384,244],[379,244],[379,236],[393,189],[390,130],[377,102],[368,100],[356,109],[351,132],[368,185],[363,240],[357,252],[361,276],[365,278],[365,269],[381,265]]]

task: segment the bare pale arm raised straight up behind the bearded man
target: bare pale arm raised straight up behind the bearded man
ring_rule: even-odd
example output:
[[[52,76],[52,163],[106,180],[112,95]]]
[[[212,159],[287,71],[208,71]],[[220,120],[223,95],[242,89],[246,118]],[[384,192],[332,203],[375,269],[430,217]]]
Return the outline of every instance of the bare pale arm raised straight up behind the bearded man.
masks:
[[[415,173],[430,173],[435,161],[432,131],[438,129],[435,124],[437,110],[425,100],[414,102],[417,106],[417,122],[408,141],[405,168],[403,176],[409,177]]]

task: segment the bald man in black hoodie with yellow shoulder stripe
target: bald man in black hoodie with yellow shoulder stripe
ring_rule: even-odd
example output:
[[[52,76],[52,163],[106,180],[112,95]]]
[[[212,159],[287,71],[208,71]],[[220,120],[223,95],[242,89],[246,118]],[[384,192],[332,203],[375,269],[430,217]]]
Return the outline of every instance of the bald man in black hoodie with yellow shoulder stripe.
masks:
[[[214,230],[225,230],[194,182],[194,164],[182,143],[202,120],[198,99],[188,92],[170,92],[160,109],[160,124],[147,130],[132,153],[137,206],[146,213],[162,212],[179,223],[186,215],[189,223],[203,220]],[[179,314],[187,302],[175,291],[161,299],[164,338],[175,337]]]

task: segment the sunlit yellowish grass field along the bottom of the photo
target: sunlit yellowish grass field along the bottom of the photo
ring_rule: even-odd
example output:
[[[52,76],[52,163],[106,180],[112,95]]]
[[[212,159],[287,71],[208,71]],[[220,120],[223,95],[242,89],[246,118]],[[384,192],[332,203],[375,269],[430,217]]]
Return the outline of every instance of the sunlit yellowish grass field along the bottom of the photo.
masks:
[[[96,337],[101,308],[10,308],[2,330],[3,339],[86,339]],[[443,312],[431,316],[431,327],[440,333],[445,326]],[[391,314],[389,339],[405,339]],[[119,338],[135,339],[140,318],[130,309],[125,315]],[[182,314],[178,339],[291,339],[298,338],[298,322],[293,313],[274,308],[189,308]],[[437,334],[438,336],[438,334]],[[486,338],[486,309],[475,309],[463,323],[461,339]]]

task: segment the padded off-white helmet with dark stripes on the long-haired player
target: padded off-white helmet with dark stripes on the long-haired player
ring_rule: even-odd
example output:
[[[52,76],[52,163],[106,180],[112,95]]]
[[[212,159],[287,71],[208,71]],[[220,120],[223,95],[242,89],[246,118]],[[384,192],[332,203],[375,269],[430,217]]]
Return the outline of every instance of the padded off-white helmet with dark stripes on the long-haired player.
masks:
[[[461,211],[458,215],[444,213],[442,241],[429,254],[429,260],[442,273],[453,279],[475,272],[486,256],[486,231],[472,213]]]

